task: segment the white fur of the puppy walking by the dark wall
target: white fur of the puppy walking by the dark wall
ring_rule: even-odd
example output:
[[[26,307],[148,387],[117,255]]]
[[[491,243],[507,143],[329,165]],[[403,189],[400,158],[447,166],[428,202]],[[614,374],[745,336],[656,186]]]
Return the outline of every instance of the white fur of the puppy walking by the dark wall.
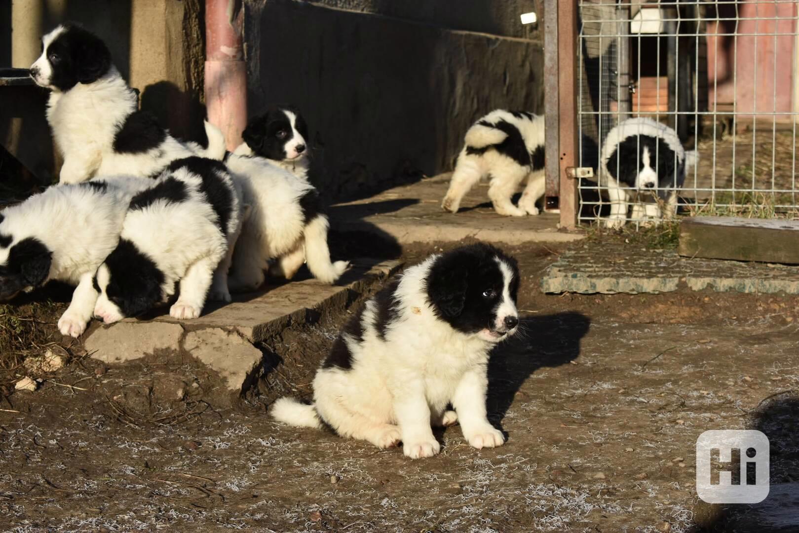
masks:
[[[482,154],[467,153],[467,147],[483,148],[496,145],[507,137],[507,134],[499,129],[480,124],[481,121],[491,124],[507,121],[514,125],[522,134],[529,153],[533,153],[537,147],[544,145],[544,117],[533,115],[530,119],[516,117],[513,113],[503,109],[491,111],[475,122],[467,131],[465,144],[458,156],[447,195],[441,206],[445,211],[458,213],[463,196],[480,178],[488,175],[491,176],[488,197],[497,213],[513,217],[539,214],[539,208],[535,204],[543,197],[546,189],[543,169],[534,171],[531,166],[519,165],[517,161],[495,149],[489,149]],[[511,197],[525,178],[527,178],[527,186],[517,207],[513,205]]]

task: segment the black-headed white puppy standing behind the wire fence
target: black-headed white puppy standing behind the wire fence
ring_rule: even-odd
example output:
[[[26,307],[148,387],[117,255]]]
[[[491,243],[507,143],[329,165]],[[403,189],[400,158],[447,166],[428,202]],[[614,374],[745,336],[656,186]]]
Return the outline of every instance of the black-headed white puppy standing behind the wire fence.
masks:
[[[644,117],[620,122],[602,143],[600,165],[610,199],[607,227],[626,224],[630,201],[636,202],[632,213],[636,221],[674,217],[686,169],[696,161],[697,153],[686,152],[669,126]]]

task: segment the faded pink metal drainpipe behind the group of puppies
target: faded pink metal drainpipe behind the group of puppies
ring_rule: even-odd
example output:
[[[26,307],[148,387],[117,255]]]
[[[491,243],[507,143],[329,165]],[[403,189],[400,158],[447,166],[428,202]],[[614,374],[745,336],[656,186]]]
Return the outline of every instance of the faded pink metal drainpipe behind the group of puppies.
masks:
[[[240,0],[205,0],[205,105],[229,150],[240,145],[247,125],[243,20]]]

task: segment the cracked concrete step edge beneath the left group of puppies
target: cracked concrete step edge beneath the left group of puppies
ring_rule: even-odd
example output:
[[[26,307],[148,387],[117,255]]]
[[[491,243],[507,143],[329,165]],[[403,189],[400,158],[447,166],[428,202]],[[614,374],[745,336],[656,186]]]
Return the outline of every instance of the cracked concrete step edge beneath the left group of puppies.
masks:
[[[230,304],[206,306],[195,320],[175,320],[169,309],[161,309],[146,320],[95,323],[85,337],[85,349],[111,364],[165,353],[190,356],[217,372],[238,396],[260,377],[263,354],[256,343],[289,325],[310,324],[324,312],[348,308],[401,268],[399,261],[361,259],[352,264],[336,285],[313,279],[273,285],[236,295]]]

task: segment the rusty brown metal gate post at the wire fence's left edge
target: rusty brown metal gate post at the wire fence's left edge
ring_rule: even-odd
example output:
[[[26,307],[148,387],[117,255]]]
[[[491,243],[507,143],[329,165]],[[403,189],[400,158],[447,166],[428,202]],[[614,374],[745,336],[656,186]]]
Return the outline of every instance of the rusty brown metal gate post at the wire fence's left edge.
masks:
[[[552,2],[555,3],[555,2]],[[567,169],[578,166],[577,136],[577,3],[561,0],[558,7],[560,227],[574,229],[578,214],[578,179]],[[547,17],[548,14],[544,13]]]

